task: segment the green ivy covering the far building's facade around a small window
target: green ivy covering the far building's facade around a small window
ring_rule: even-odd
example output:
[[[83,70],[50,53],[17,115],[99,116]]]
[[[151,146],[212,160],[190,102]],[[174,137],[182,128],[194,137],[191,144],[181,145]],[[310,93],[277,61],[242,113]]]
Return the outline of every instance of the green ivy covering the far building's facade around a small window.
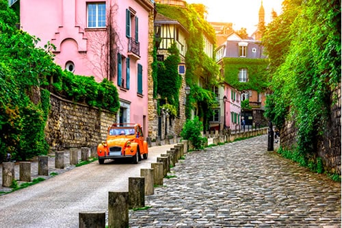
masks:
[[[269,62],[266,59],[224,58],[224,79],[240,91],[265,91],[268,87],[266,71],[268,64]],[[247,82],[239,82],[239,71],[241,68],[247,68]]]

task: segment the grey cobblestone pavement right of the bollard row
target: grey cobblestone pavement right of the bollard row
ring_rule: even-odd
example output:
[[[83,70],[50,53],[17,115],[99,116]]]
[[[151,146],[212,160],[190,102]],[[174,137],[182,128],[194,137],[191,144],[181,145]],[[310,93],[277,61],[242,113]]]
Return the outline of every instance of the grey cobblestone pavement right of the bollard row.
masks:
[[[341,183],[267,152],[267,135],[187,153],[130,227],[341,227]]]

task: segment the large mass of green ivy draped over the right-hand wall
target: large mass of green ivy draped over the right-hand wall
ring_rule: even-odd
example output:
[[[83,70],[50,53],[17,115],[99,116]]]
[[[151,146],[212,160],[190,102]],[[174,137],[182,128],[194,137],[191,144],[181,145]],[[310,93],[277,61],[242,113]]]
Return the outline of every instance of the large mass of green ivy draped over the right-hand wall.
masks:
[[[266,116],[277,127],[285,119],[295,122],[296,155],[313,166],[331,91],[341,81],[341,1],[286,1],[284,13],[267,26],[264,45],[274,91]]]

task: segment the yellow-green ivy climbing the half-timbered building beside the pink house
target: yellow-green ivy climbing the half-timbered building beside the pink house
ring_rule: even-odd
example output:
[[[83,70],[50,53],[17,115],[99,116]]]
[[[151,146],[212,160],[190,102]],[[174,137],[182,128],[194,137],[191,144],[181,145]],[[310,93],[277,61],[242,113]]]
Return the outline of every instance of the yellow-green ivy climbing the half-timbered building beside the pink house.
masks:
[[[201,4],[189,4],[187,8],[157,4],[157,12],[179,21],[189,31],[187,53],[185,55],[185,64],[187,66],[185,81],[190,86],[191,92],[187,96],[185,116],[190,118],[191,111],[197,107],[199,111],[198,116],[203,119],[207,129],[209,119],[212,116],[211,103],[213,101],[197,97],[194,92],[196,90],[195,86],[200,83],[200,80],[203,89],[207,90],[205,92],[207,94],[209,94],[213,86],[218,85],[218,79],[216,78],[216,75],[219,73],[218,64],[203,51],[205,47],[203,36],[207,36],[215,44],[215,30],[205,21],[202,15],[205,12],[205,8]]]

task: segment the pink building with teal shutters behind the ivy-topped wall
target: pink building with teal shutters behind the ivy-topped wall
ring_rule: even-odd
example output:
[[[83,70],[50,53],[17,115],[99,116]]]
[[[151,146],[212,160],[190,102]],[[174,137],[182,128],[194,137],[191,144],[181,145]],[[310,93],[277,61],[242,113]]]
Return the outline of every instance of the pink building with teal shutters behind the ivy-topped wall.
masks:
[[[55,62],[118,88],[118,123],[140,123],[147,136],[150,0],[21,1],[21,29],[55,45]],[[151,19],[152,18],[152,19]],[[152,29],[152,30],[151,30]]]

